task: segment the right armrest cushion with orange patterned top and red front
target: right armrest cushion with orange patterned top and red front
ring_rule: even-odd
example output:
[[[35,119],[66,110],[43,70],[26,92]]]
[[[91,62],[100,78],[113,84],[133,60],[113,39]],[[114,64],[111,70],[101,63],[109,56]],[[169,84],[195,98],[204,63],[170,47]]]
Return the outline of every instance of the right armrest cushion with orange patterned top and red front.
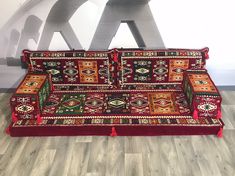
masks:
[[[194,118],[221,118],[222,98],[206,70],[187,70],[183,90]]]

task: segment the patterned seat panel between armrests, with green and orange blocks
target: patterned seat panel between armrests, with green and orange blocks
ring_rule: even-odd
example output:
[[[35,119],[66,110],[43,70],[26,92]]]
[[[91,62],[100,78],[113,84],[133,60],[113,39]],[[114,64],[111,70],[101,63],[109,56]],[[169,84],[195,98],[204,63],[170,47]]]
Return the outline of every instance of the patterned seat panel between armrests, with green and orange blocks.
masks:
[[[44,118],[191,118],[182,90],[52,93],[42,110]]]

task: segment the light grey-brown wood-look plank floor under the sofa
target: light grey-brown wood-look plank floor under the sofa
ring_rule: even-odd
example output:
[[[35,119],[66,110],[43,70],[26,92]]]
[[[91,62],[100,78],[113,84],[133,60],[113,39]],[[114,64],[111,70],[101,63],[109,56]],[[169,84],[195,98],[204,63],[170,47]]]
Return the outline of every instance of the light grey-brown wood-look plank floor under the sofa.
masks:
[[[0,94],[0,176],[235,176],[235,91],[223,96],[224,137],[24,137],[5,134]]]

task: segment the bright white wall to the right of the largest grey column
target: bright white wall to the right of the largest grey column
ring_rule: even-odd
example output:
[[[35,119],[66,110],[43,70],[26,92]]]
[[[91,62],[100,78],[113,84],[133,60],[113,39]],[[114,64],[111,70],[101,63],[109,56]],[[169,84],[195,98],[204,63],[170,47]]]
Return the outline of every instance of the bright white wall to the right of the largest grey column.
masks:
[[[234,0],[151,1],[167,47],[210,48],[209,67],[234,69]]]

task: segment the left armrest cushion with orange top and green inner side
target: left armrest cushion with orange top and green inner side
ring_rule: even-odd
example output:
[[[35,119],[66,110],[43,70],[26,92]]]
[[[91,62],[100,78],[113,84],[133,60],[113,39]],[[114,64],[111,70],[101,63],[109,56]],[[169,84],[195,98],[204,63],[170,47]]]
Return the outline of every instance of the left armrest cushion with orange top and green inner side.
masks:
[[[47,74],[28,73],[10,99],[13,118],[36,118],[37,115],[40,115],[49,93],[50,85]]]

